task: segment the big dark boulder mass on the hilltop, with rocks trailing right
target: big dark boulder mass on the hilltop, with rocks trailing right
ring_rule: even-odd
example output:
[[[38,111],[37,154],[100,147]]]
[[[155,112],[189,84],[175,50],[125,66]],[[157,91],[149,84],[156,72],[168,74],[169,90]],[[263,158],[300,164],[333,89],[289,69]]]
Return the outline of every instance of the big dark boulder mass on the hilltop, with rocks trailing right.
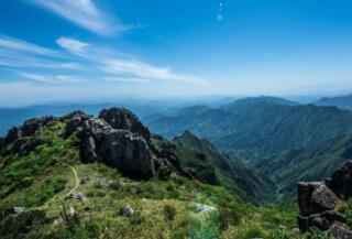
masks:
[[[66,120],[64,134],[69,137],[77,133],[85,162],[105,162],[133,178],[151,178],[161,165],[167,165],[174,173],[190,176],[174,155],[153,149],[148,129],[127,109],[105,109],[99,118],[76,111],[68,115]]]

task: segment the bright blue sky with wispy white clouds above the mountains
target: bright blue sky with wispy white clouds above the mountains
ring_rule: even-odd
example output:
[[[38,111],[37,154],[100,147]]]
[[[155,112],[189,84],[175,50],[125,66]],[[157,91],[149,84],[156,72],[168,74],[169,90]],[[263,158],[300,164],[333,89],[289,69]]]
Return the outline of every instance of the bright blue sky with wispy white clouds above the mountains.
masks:
[[[351,91],[350,0],[0,0],[0,106]]]

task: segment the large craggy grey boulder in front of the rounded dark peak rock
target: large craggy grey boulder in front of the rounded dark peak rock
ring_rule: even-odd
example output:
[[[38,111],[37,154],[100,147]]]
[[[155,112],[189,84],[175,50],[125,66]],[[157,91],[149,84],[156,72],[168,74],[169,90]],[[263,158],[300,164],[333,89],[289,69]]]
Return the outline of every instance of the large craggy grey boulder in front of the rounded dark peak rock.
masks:
[[[80,139],[84,162],[103,162],[134,178],[144,180],[155,175],[156,157],[144,137],[125,129],[113,129],[102,118],[81,112],[72,113],[67,119],[65,134],[74,132]]]

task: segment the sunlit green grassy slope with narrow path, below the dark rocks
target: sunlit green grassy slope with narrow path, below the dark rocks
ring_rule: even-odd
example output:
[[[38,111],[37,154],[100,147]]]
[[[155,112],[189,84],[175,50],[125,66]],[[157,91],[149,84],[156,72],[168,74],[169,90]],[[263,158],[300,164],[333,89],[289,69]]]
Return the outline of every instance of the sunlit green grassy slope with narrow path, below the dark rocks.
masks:
[[[25,206],[0,220],[2,238],[294,238],[296,208],[254,207],[228,191],[189,181],[154,178],[138,182],[103,164],[82,164],[75,139],[59,137],[64,122],[44,128],[45,144],[28,156],[0,156],[0,208]],[[75,185],[72,171],[88,202],[65,199]],[[204,215],[193,203],[215,206]],[[65,205],[79,214],[80,224],[61,222]],[[135,209],[121,217],[125,205]],[[278,229],[285,226],[285,230]]]

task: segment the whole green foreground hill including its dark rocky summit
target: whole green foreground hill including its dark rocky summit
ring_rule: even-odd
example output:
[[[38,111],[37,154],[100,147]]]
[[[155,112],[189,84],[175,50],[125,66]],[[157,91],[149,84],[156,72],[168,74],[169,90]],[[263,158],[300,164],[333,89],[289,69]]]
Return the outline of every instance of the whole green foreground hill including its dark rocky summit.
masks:
[[[202,184],[143,135],[120,109],[13,128],[0,140],[1,238],[298,237],[295,207],[255,207]]]

